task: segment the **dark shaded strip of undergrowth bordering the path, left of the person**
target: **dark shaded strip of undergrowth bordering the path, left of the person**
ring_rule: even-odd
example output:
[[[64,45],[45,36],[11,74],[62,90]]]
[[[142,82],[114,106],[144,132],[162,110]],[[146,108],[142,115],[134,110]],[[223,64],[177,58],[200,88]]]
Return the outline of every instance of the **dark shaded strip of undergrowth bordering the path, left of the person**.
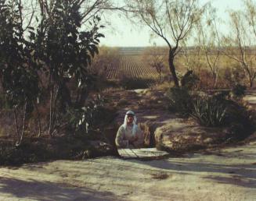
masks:
[[[0,164],[20,165],[45,160],[72,160],[82,158],[88,148],[85,136],[24,137],[20,146],[9,139],[0,140]]]

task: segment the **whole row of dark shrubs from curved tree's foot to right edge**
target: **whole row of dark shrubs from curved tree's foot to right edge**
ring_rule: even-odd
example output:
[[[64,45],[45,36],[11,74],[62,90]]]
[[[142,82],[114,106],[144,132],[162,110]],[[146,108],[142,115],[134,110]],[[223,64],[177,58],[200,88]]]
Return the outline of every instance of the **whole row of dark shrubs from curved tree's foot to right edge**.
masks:
[[[254,130],[251,114],[246,108],[230,99],[230,91],[210,96],[192,94],[185,87],[173,87],[168,91],[171,111],[193,117],[200,125],[228,127],[231,139],[244,139]]]

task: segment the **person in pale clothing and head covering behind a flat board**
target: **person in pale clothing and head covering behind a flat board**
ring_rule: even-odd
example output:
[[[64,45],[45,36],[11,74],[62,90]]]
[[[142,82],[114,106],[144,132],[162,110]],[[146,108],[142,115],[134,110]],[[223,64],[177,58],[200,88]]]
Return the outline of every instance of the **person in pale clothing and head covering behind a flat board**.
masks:
[[[141,148],[144,143],[144,136],[136,125],[136,116],[133,111],[126,112],[124,124],[117,131],[117,148]]]

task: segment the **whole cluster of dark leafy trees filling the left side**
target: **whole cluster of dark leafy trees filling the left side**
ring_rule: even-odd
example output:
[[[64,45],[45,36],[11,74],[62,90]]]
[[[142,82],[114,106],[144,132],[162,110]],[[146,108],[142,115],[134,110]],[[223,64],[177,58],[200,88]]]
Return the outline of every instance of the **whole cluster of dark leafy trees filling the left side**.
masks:
[[[23,128],[21,140],[28,113],[38,112],[42,104],[49,103],[50,135],[63,124],[67,108],[85,106],[95,80],[88,66],[104,36],[99,33],[99,16],[83,25],[79,0],[55,1],[47,11],[42,6],[40,21],[37,13],[31,15],[34,27],[23,24],[25,9],[19,3],[0,1],[0,81],[15,117],[22,111],[22,126],[15,118],[16,130]]]

